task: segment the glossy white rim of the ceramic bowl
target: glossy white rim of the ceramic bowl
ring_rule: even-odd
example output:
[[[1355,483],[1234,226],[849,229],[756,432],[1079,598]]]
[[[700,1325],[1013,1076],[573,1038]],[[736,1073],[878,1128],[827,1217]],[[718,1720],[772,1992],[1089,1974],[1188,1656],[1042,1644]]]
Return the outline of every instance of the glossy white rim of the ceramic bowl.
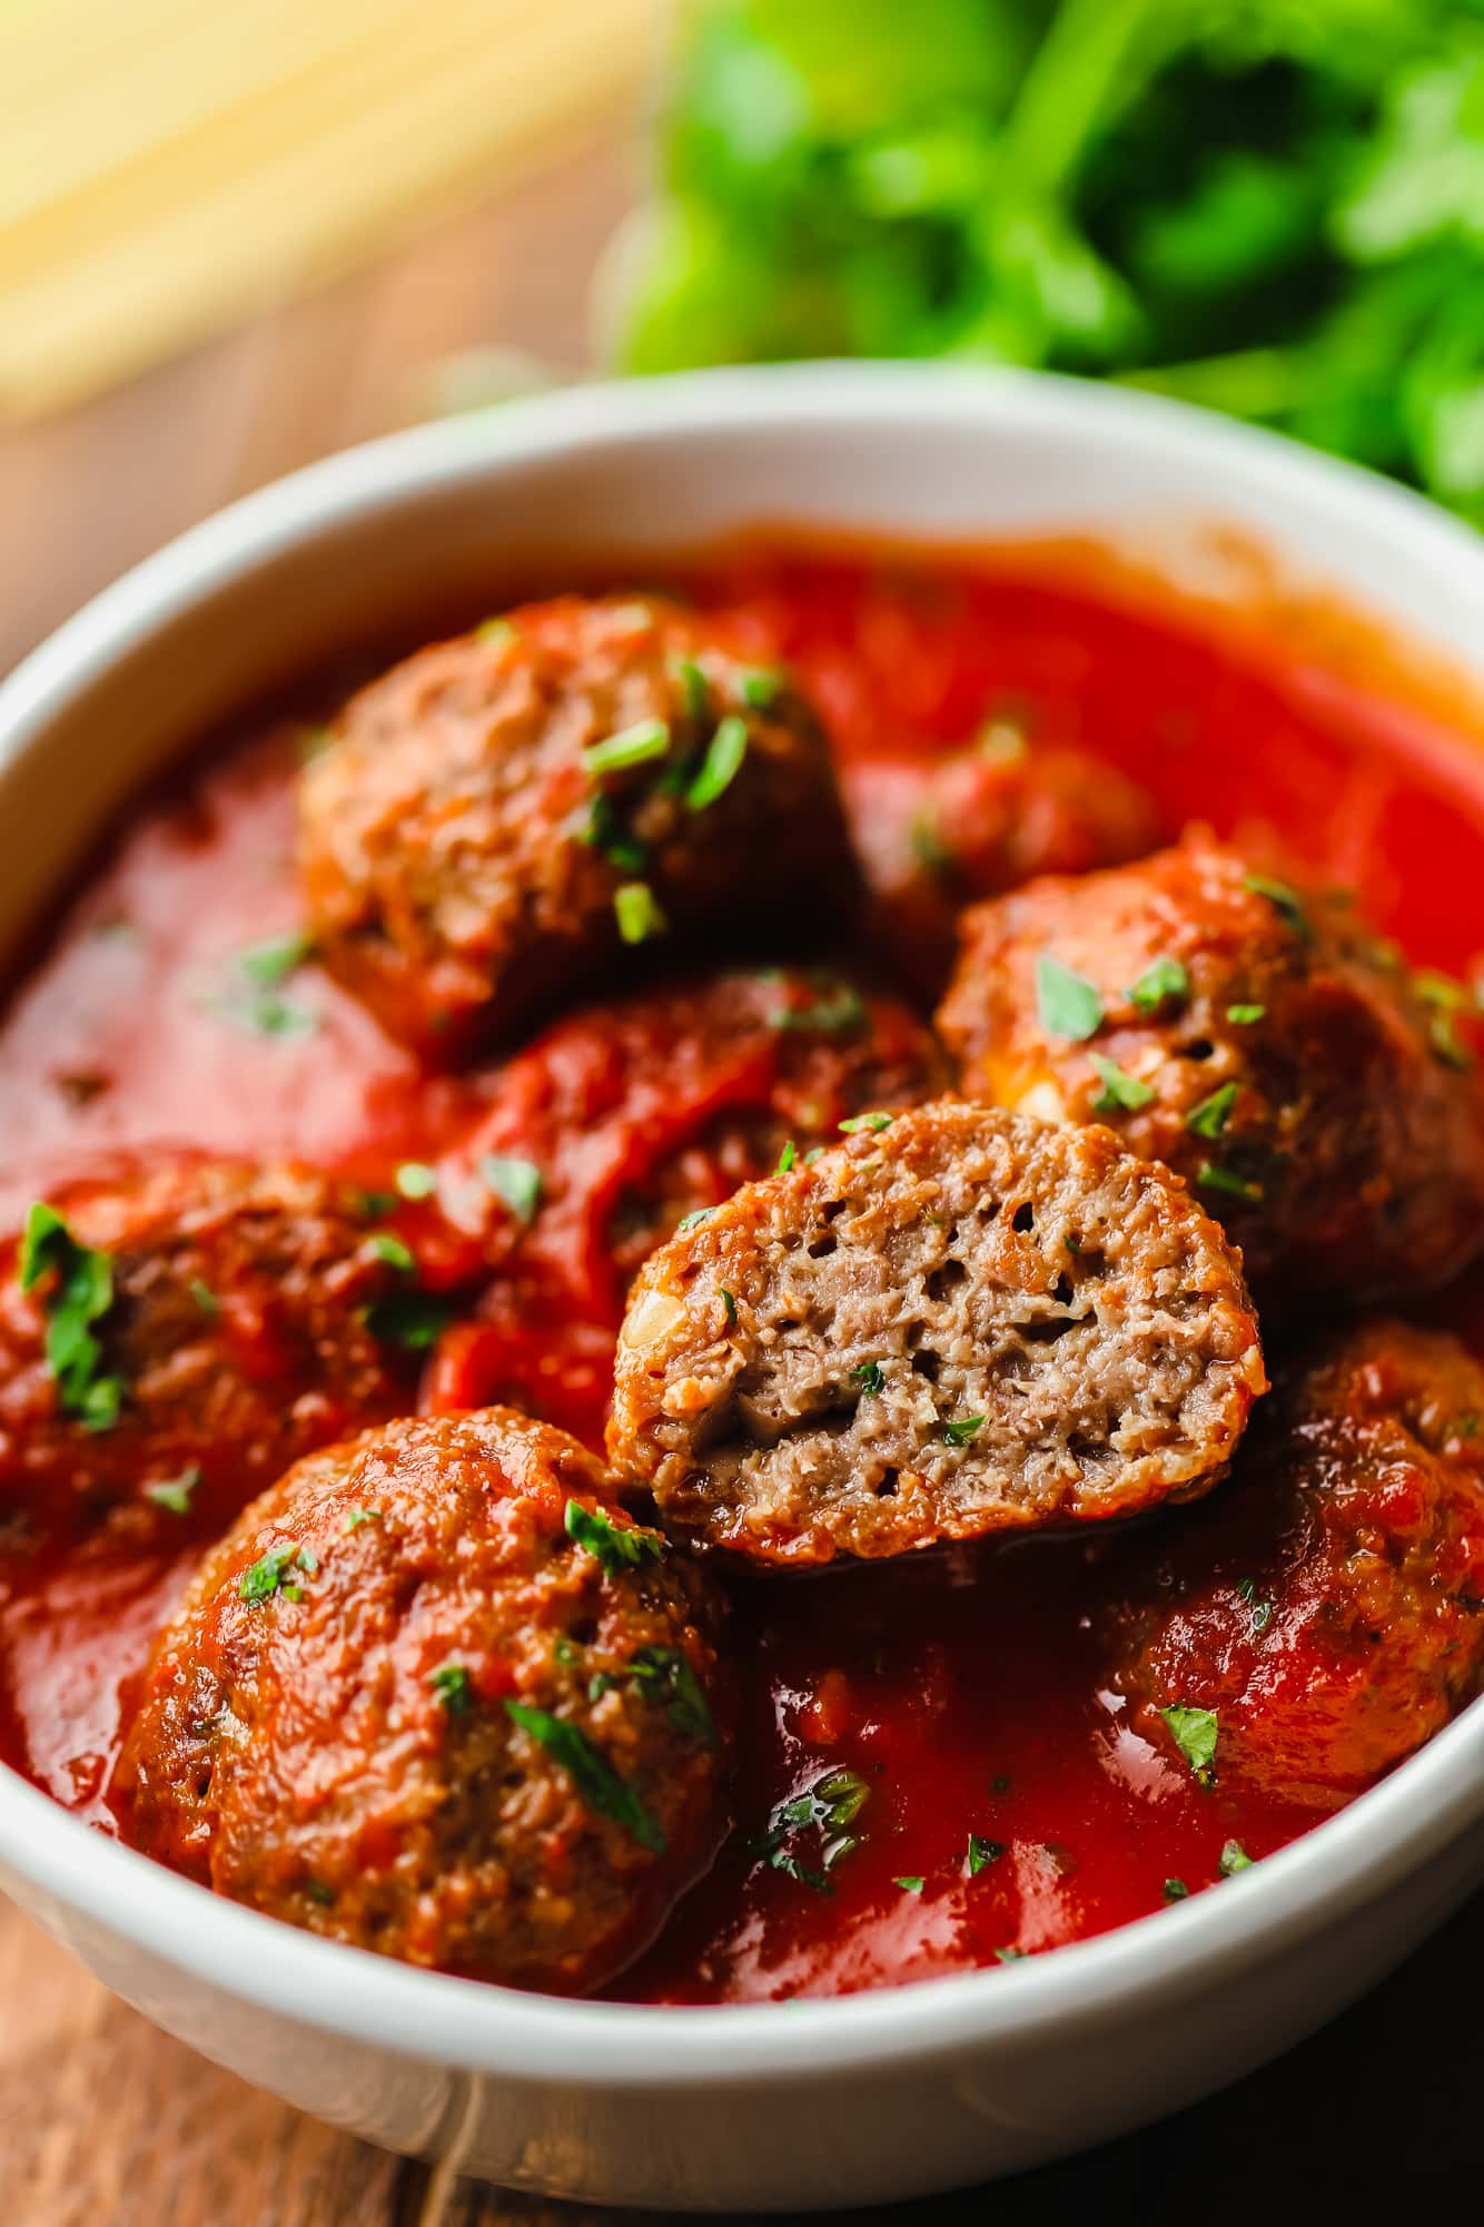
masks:
[[[1355,465],[1184,403],[1030,372],[810,363],[581,385],[498,412],[436,421],[345,450],[216,512],[125,572],[0,684],[0,766],[44,746],[47,726],[118,659],[180,612],[280,552],[465,477],[614,441],[859,428],[890,439],[923,414],[979,430],[1086,436],[1237,468],[1282,512],[1388,541],[1402,561],[1477,583],[1484,539]],[[892,539],[912,541],[910,526]],[[1382,612],[1384,617],[1384,612]],[[0,1764],[0,1866],[73,1911],[260,2011],[300,2027],[509,2082],[636,2091],[841,2078],[968,2044],[1015,2044],[1050,2027],[1150,2015],[1377,1900],[1484,1819],[1484,1699],[1335,1817],[1215,1893],[1193,1895],[1055,1955],[859,1995],[761,2004],[619,2004],[532,1995],[416,1971],[316,1940],[91,1831]],[[67,1926],[62,1933],[67,1935]],[[783,2015],[788,2011],[788,2015]]]

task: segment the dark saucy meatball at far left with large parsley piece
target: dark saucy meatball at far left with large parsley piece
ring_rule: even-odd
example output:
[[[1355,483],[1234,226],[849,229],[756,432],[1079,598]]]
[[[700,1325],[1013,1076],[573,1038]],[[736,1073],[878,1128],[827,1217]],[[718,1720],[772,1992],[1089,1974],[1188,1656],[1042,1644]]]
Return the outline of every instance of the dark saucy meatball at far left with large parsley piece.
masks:
[[[62,1234],[31,1216],[29,1292],[24,1245],[0,1258],[0,1510],[24,1532],[220,1528],[300,1454],[412,1405],[418,1356],[376,1325],[416,1274],[323,1176],[167,1162],[53,1209]],[[56,1343],[69,1323],[82,1365]]]

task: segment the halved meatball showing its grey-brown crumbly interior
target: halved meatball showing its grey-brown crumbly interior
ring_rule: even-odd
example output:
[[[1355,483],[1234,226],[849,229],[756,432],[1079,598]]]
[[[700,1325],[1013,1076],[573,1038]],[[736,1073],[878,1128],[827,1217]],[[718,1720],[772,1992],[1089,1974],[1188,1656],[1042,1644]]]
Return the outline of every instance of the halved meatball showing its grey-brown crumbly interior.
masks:
[[[654,1254],[607,1445],[674,1525],[812,1563],[1206,1492],[1264,1383],[1241,1265],[1175,1176],[943,1100]]]

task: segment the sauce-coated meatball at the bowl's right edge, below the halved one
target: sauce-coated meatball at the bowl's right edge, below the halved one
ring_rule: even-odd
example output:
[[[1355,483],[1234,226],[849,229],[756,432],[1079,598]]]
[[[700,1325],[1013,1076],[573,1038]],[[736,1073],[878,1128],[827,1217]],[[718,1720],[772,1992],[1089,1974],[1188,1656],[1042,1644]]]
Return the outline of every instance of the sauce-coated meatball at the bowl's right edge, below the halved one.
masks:
[[[1362,1325],[1108,1583],[1112,1679],[1146,1737],[1181,1764],[1179,1713],[1210,1713],[1217,1786],[1337,1808],[1480,1690],[1484,1372],[1451,1336]]]

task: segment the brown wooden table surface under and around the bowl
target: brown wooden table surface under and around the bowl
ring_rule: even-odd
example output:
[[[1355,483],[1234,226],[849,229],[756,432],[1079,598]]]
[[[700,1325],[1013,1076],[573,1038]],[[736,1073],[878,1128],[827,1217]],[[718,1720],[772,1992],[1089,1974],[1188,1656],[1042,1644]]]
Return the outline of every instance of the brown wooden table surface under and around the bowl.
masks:
[[[503,343],[587,356],[585,274],[623,205],[612,149],[73,416],[0,434],[0,670],[122,566],[236,494],[416,414],[427,367]],[[1264,2227],[1290,2194],[1371,2216],[1477,2209],[1484,1897],[1322,2035],[1208,2105],[934,2227]],[[888,2214],[872,2214],[886,2218]],[[901,2214],[892,2214],[901,2216]],[[289,2111],[167,2040],[0,1902],[2,2227],[583,2227]]]

